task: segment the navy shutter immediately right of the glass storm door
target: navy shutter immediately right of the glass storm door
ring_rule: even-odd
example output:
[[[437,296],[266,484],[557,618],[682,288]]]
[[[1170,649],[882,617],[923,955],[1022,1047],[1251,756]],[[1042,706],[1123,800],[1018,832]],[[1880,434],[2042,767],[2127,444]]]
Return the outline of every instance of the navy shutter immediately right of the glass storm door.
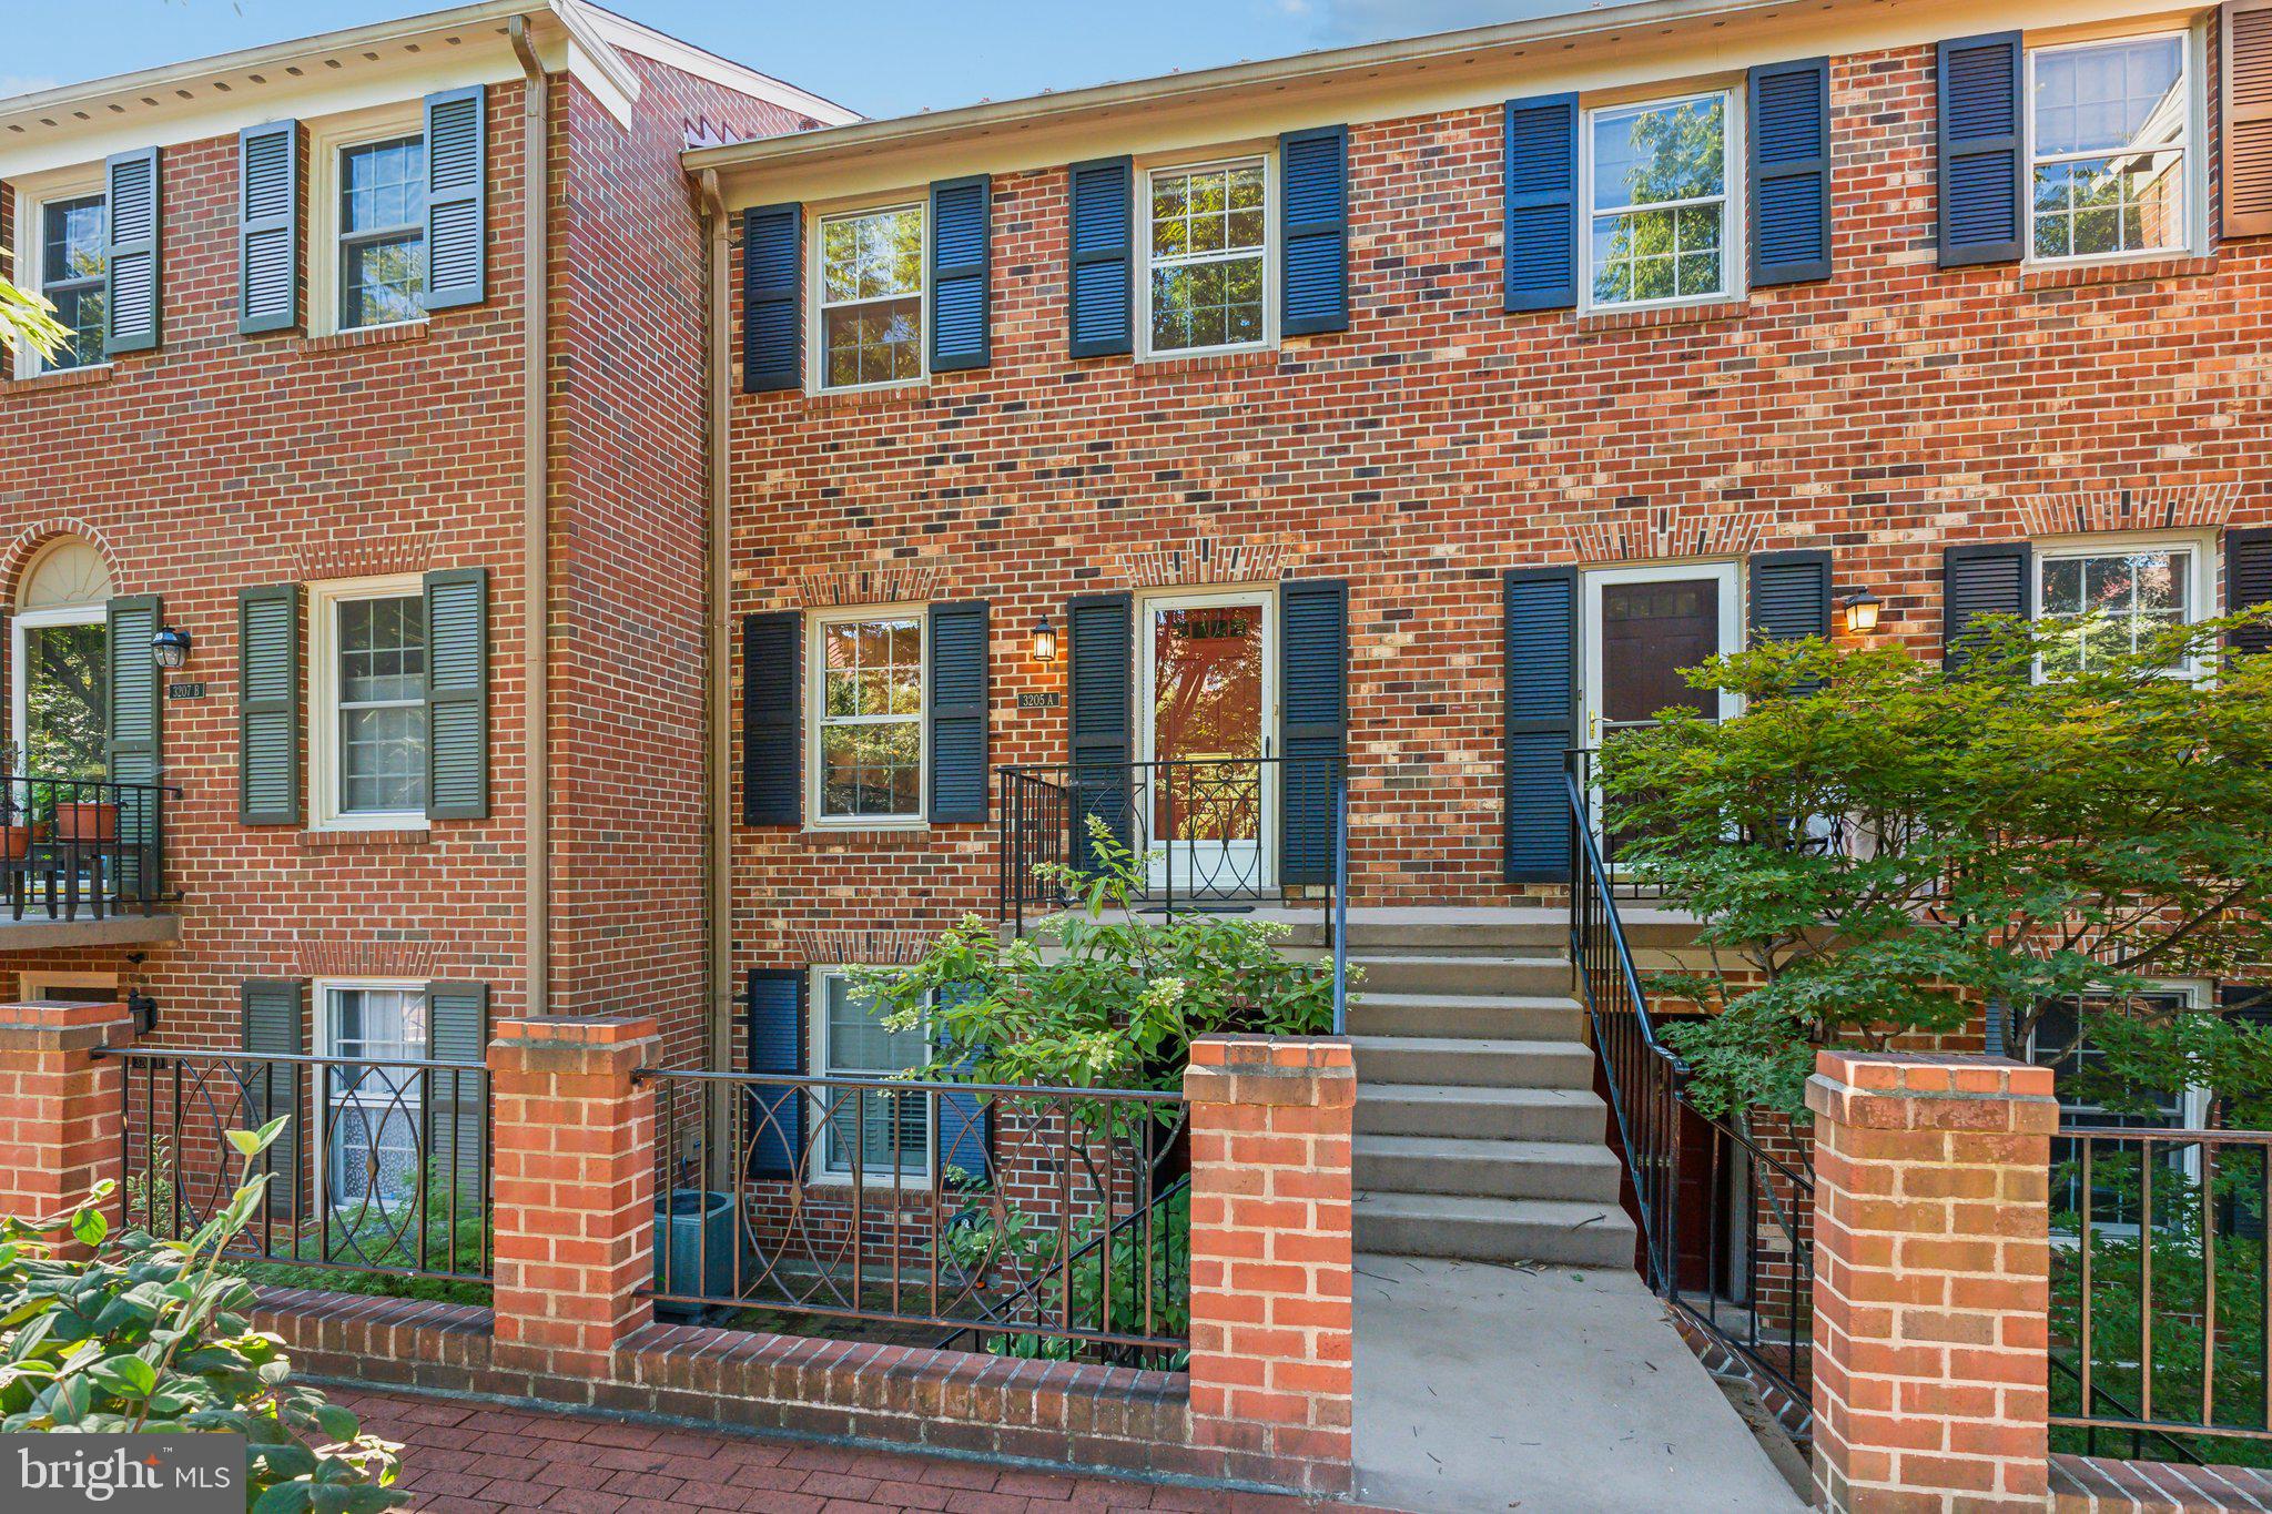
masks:
[[[1279,586],[1279,883],[1334,881],[1334,799],[1350,735],[1350,586]]]

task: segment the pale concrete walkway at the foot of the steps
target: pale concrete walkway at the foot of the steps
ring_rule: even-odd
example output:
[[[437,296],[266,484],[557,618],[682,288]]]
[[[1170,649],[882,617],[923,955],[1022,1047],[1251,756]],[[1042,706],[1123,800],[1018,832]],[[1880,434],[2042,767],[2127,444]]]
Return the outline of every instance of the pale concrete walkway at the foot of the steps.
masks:
[[[1806,1505],[1629,1271],[1356,1260],[1356,1496],[1415,1514]]]

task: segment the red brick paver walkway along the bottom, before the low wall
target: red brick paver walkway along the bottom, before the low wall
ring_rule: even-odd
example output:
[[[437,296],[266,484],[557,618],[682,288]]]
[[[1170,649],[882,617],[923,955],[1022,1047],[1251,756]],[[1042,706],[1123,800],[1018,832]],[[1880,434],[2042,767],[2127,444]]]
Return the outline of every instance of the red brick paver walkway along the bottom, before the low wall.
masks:
[[[988,1466],[904,1450],[852,1450],[791,1439],[666,1430],[538,1414],[448,1398],[334,1389],[364,1428],[402,1441],[414,1509],[436,1514],[1066,1514],[1068,1509],[1186,1509],[1295,1514],[1297,1498],[1211,1494],[1118,1478]],[[1345,1507],[1345,1505],[1343,1505]]]

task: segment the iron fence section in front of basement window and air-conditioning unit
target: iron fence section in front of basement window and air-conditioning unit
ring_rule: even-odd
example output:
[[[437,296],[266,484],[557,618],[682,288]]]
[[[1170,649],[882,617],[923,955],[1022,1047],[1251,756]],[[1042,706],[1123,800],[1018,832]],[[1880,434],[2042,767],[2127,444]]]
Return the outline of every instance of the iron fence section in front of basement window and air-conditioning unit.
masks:
[[[645,1071],[659,1307],[1004,1355],[1175,1364],[1184,1103],[1166,1092]]]

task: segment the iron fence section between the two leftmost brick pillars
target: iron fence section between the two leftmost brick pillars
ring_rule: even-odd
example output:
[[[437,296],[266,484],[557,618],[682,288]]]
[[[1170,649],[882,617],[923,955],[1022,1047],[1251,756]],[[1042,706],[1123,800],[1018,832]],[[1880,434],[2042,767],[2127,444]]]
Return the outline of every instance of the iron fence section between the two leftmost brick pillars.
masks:
[[[482,1280],[491,1262],[488,1069],[132,1046],[125,1221],[184,1239],[243,1178],[229,1130],[291,1121],[252,1171],[266,1203],[229,1255],[293,1269]]]

